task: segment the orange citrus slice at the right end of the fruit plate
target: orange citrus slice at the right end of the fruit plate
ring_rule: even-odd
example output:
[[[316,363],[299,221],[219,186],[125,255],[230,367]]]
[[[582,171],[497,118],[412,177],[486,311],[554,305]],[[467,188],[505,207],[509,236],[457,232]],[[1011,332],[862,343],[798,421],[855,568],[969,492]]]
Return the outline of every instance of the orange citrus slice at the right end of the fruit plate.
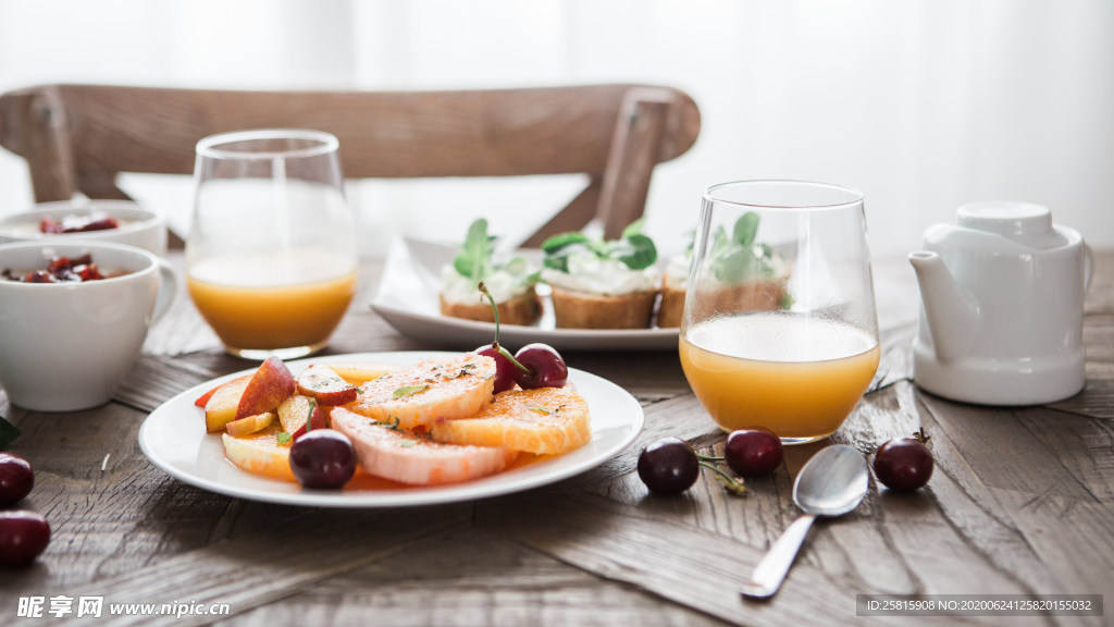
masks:
[[[557,455],[592,440],[590,424],[588,404],[566,384],[500,392],[475,416],[434,423],[430,433],[438,442]]]

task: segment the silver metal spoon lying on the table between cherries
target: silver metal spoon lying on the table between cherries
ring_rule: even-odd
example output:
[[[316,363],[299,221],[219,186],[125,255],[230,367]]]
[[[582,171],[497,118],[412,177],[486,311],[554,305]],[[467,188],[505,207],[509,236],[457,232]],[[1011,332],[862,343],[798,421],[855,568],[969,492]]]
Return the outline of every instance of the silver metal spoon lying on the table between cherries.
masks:
[[[804,515],[789,525],[754,567],[750,582],[743,583],[743,596],[772,597],[793,566],[812,521],[818,515],[843,515],[859,507],[870,485],[869,475],[867,459],[850,446],[837,444],[813,455],[793,483],[793,502]]]

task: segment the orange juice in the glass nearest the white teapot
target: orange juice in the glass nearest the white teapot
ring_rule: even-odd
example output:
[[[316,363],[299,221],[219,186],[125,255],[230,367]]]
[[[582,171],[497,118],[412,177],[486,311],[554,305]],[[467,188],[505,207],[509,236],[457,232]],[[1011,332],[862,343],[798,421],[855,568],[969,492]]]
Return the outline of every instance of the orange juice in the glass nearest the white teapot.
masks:
[[[712,318],[681,337],[685,376],[723,430],[763,426],[798,442],[843,424],[880,355],[867,331],[788,312]]]

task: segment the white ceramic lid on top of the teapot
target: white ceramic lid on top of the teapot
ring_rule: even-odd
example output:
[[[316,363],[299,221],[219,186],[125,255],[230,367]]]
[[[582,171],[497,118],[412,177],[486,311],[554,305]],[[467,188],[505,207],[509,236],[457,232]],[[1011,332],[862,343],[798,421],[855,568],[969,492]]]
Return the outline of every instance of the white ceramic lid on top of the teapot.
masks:
[[[956,213],[956,225],[997,233],[1037,250],[1067,243],[1067,239],[1052,228],[1052,212],[1039,204],[1007,201],[965,204]]]

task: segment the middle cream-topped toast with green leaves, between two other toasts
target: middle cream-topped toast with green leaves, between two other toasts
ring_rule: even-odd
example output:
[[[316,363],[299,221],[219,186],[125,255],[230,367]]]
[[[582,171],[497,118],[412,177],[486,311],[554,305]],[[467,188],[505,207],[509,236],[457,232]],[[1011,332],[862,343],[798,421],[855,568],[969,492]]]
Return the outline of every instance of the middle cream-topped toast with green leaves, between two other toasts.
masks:
[[[546,240],[541,279],[553,288],[557,326],[575,329],[644,329],[657,299],[657,249],[632,222],[615,241],[579,232]]]

